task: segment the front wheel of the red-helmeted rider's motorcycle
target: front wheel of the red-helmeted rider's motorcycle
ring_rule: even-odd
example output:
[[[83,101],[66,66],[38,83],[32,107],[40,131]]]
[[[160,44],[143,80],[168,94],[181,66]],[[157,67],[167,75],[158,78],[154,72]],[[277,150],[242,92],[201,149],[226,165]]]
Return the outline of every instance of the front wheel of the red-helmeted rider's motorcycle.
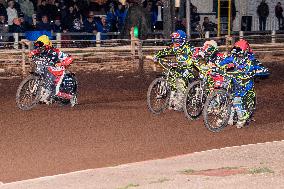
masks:
[[[227,91],[218,89],[208,96],[203,110],[205,127],[212,132],[220,132],[227,125],[231,113],[231,99]]]

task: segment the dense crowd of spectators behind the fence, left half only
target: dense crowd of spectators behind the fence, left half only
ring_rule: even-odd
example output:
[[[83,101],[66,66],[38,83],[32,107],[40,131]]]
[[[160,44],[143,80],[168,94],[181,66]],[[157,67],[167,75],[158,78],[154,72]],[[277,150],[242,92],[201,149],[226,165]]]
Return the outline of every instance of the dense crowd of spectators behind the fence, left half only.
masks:
[[[26,31],[120,32],[133,0],[8,0],[0,1],[0,33]],[[160,0],[145,0],[141,4],[149,11],[152,27],[161,17]],[[159,8],[160,6],[160,8]],[[159,15],[160,14],[160,15]]]

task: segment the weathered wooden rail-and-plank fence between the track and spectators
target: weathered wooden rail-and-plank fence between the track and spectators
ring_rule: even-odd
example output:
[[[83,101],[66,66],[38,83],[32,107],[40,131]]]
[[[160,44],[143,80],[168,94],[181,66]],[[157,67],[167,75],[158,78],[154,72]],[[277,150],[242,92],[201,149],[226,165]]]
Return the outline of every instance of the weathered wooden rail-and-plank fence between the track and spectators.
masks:
[[[81,36],[94,36],[81,33]],[[160,49],[170,44],[170,39],[147,39],[136,38],[118,39],[113,34],[112,39],[98,38],[79,40],[77,33],[74,38],[70,33],[55,34],[52,40],[54,46],[63,52],[75,57],[75,64],[70,69],[74,71],[116,71],[116,72],[137,72],[156,70],[158,67],[153,64],[151,56]],[[0,34],[0,36],[3,36]],[[29,72],[30,60],[27,57],[32,49],[32,42],[21,39],[21,34],[5,34],[8,37],[15,37],[13,42],[0,41],[0,78],[2,76],[20,76]],[[64,36],[69,36],[64,38]],[[76,37],[78,37],[76,39]],[[216,40],[222,51],[228,51],[234,41],[245,38],[252,44],[254,51],[284,51],[284,34],[278,32],[233,33],[232,37],[210,37],[190,39],[192,45],[201,47],[206,40]],[[59,40],[58,40],[59,39]],[[99,44],[99,45],[98,45]]]

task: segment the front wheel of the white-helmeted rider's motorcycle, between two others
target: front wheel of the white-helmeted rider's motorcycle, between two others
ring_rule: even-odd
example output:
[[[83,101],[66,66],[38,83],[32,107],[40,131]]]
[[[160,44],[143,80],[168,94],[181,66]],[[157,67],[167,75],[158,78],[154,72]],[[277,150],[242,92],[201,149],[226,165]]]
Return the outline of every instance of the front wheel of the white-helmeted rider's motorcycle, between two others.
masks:
[[[186,89],[184,95],[183,111],[185,117],[190,120],[196,120],[202,113],[206,94],[203,89],[202,81],[192,82]]]

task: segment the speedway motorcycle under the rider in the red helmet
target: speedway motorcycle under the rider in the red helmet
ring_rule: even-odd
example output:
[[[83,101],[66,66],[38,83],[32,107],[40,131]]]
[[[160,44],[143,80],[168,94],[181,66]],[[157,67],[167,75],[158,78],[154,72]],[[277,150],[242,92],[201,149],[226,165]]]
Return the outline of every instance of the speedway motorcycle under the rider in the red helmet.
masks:
[[[220,132],[227,125],[231,115],[233,105],[233,75],[226,76],[222,83],[215,83],[212,90],[206,99],[203,110],[205,127],[212,132]],[[244,99],[244,108],[249,113],[249,118],[246,121],[248,124],[256,110],[256,95],[255,91],[249,91]],[[234,112],[235,114],[235,112]],[[237,121],[237,116],[234,115],[234,121]]]

